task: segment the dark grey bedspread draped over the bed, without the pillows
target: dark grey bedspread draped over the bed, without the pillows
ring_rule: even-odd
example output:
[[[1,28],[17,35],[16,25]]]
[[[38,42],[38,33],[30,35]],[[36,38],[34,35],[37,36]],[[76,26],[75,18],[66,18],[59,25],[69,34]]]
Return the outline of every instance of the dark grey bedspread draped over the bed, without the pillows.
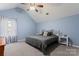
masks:
[[[55,42],[58,42],[58,36],[54,34],[51,36],[32,35],[27,37],[25,42],[35,48],[38,48],[45,55],[47,55],[47,47],[49,47],[51,44],[54,44]]]

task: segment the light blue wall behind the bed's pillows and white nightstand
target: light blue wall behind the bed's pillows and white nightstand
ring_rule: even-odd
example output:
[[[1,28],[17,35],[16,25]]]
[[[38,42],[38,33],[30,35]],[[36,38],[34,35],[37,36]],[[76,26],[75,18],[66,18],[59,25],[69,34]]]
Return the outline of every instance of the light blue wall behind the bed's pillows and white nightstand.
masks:
[[[41,30],[60,30],[69,35],[75,45],[79,45],[79,15],[73,15],[62,19],[39,23],[37,31]]]

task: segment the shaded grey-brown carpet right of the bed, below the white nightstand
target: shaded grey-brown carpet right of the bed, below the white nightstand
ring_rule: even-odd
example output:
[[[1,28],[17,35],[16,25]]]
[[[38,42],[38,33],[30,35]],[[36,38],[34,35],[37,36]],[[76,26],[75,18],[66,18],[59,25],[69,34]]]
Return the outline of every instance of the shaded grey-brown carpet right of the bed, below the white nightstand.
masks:
[[[51,56],[79,56],[79,48],[60,45],[51,53]]]

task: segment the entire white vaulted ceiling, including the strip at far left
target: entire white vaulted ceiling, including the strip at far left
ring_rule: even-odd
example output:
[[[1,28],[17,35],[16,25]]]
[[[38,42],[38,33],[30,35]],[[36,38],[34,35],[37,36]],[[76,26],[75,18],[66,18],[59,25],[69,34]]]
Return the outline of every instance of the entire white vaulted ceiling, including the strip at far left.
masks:
[[[26,4],[0,4],[0,10],[7,10],[11,8],[22,8],[28,13],[30,17],[33,18],[34,21],[40,23],[49,20],[57,20],[59,18],[72,16],[75,14],[79,14],[79,4],[78,3],[40,3],[44,7],[38,8],[39,12],[35,10],[27,10],[29,8],[29,3]],[[39,5],[39,3],[38,3]],[[48,15],[46,15],[48,13]]]

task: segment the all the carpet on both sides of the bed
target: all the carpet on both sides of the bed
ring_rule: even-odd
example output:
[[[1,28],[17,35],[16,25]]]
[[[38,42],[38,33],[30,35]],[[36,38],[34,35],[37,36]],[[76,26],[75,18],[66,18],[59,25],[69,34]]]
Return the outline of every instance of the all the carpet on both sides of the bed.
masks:
[[[79,56],[79,48],[57,45],[49,48],[50,56]],[[44,56],[38,49],[26,44],[17,42],[5,46],[5,56]]]

